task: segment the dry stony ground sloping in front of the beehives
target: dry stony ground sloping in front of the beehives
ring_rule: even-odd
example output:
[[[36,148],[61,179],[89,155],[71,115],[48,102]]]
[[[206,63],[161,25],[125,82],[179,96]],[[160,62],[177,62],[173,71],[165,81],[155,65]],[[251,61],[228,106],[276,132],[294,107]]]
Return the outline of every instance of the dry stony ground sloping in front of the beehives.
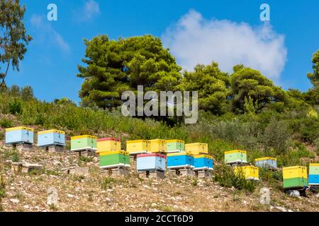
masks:
[[[11,160],[43,165],[40,172],[14,172]],[[68,174],[74,165],[89,167],[88,174]],[[3,211],[319,211],[319,196],[291,197],[270,189],[271,204],[253,194],[223,188],[212,179],[168,176],[141,179],[101,174],[97,158],[79,160],[72,153],[14,153],[0,148],[1,175],[6,184]]]

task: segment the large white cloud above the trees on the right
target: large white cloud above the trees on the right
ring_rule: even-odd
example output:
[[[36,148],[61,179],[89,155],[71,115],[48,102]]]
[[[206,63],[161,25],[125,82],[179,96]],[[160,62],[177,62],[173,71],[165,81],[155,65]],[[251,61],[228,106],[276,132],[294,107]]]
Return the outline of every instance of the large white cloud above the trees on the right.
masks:
[[[231,73],[233,66],[244,64],[278,81],[286,64],[284,35],[277,34],[267,23],[252,28],[230,20],[206,20],[201,13],[189,11],[167,28],[162,39],[189,71],[196,64],[216,61],[220,69]]]

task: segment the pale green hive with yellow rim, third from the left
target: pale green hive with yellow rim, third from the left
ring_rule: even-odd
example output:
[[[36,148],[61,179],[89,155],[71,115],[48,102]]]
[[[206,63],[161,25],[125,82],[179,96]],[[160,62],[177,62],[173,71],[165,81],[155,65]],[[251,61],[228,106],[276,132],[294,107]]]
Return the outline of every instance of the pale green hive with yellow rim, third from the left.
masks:
[[[96,148],[96,136],[82,135],[71,137],[71,150],[82,151],[82,150],[97,150]]]

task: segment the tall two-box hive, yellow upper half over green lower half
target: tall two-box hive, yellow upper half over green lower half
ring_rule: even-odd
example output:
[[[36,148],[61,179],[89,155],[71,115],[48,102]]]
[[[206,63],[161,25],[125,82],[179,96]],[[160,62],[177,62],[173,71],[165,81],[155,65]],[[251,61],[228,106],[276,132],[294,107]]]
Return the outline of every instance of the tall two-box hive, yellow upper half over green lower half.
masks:
[[[284,167],[284,189],[303,188],[308,186],[307,167]]]

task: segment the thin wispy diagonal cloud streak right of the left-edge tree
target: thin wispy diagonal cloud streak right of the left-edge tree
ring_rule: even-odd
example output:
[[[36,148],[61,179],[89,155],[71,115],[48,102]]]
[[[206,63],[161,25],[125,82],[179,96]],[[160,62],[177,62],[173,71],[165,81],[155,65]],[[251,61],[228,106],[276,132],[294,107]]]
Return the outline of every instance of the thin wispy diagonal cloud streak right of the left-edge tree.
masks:
[[[57,45],[63,52],[69,53],[69,44],[67,44],[60,33],[52,28],[51,22],[45,20],[43,16],[33,15],[31,17],[31,24],[45,36],[45,40],[49,40],[52,44]]]

